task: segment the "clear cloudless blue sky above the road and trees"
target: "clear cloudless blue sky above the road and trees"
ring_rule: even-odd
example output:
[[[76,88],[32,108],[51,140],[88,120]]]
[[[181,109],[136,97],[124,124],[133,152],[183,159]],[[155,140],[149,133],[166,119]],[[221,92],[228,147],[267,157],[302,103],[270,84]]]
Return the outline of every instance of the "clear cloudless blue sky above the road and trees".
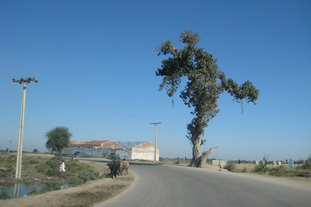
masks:
[[[17,150],[22,85],[27,84],[23,150],[45,149],[45,132],[66,126],[73,139],[151,141],[160,157],[192,157],[185,137],[191,109],[159,91],[153,49],[179,32],[227,78],[250,80],[257,105],[224,93],[201,150],[218,159],[307,159],[311,154],[310,1],[0,1],[0,149]],[[181,84],[181,89],[184,87]],[[216,158],[215,150],[209,158]]]

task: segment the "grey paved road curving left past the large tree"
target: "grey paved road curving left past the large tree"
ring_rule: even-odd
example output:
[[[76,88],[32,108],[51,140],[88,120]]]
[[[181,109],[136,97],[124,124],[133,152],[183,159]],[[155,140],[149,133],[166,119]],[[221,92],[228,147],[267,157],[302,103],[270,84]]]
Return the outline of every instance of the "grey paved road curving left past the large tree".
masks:
[[[106,163],[103,163],[106,164]],[[244,174],[154,163],[130,163],[123,193],[95,207],[310,206],[311,189]]]

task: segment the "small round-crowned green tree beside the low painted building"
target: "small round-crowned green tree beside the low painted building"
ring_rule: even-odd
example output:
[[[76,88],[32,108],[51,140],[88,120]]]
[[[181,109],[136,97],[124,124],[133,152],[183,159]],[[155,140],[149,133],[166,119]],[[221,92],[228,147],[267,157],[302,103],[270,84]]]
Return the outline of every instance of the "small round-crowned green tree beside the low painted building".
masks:
[[[72,133],[69,132],[67,127],[55,127],[45,133],[47,139],[45,147],[49,152],[58,152],[62,159],[62,151],[69,145],[69,141],[72,137]]]

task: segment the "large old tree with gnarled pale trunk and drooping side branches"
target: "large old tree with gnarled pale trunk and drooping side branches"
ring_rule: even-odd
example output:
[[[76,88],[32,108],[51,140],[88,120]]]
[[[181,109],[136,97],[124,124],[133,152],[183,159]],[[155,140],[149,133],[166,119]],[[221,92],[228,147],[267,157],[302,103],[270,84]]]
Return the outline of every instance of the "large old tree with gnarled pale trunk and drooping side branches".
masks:
[[[171,39],[162,41],[156,46],[158,55],[169,55],[168,59],[162,60],[161,68],[156,71],[156,76],[163,76],[163,82],[159,90],[166,90],[169,97],[177,92],[182,77],[187,77],[188,82],[180,92],[179,97],[183,99],[188,107],[193,108],[192,121],[187,125],[187,138],[193,145],[193,157],[189,166],[202,168],[205,165],[212,148],[201,154],[200,147],[206,142],[201,140],[204,129],[216,116],[217,99],[224,91],[229,92],[234,100],[243,104],[243,99],[256,104],[259,91],[252,82],[246,81],[238,85],[232,79],[226,79],[225,73],[217,66],[217,59],[212,54],[198,48],[197,43],[200,37],[193,31],[184,30],[180,33],[180,41],[183,42],[183,49],[174,47]],[[174,100],[173,100],[174,101]]]

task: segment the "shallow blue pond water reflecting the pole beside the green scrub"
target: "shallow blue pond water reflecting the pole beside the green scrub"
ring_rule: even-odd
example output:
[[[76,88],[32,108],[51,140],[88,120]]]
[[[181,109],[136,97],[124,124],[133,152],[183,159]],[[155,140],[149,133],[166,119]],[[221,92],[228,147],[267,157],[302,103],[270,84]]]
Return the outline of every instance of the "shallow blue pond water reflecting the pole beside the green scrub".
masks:
[[[0,199],[18,198],[24,195],[35,195],[42,191],[58,190],[70,187],[63,183],[8,183],[0,185]]]

